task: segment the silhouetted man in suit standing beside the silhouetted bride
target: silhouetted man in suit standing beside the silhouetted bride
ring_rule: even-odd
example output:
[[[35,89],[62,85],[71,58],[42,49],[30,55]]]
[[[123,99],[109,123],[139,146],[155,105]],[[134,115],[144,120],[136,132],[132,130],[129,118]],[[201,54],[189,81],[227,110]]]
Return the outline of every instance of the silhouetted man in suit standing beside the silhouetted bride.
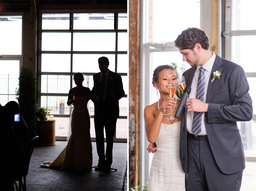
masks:
[[[94,125],[96,133],[98,167],[109,169],[112,164],[113,138],[116,120],[119,117],[119,99],[124,96],[122,78],[108,69],[109,60],[106,57],[98,59],[100,71],[93,75],[94,87],[92,95],[94,102]],[[104,126],[106,132],[106,158],[104,149]]]

